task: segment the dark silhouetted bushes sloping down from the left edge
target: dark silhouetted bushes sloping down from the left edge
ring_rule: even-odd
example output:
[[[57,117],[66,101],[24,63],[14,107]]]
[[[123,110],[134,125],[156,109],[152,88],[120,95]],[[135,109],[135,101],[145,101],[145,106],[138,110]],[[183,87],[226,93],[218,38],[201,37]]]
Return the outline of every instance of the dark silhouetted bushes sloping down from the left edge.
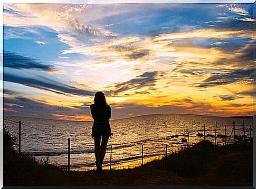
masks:
[[[63,171],[47,159],[35,160],[32,156],[19,155],[15,146],[17,138],[4,127],[4,185],[36,185],[41,173]]]

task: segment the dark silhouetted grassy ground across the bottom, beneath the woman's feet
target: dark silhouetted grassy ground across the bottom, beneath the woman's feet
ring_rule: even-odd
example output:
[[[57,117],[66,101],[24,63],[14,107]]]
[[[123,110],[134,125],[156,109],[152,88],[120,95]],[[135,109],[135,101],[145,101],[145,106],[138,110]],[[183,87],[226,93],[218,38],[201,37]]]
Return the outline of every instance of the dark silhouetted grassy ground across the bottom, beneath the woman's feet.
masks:
[[[67,172],[18,155],[15,138],[4,129],[4,185],[121,186],[121,185],[252,185],[252,145],[214,146],[201,141],[191,148],[143,166],[111,170]]]

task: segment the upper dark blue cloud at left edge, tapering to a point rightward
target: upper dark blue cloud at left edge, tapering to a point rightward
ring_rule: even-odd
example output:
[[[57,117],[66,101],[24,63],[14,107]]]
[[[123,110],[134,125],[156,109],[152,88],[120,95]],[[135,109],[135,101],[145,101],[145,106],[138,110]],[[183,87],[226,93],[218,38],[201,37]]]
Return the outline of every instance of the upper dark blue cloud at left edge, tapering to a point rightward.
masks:
[[[38,62],[36,59],[4,51],[4,67],[15,69],[39,69],[42,71],[56,71],[54,66]]]

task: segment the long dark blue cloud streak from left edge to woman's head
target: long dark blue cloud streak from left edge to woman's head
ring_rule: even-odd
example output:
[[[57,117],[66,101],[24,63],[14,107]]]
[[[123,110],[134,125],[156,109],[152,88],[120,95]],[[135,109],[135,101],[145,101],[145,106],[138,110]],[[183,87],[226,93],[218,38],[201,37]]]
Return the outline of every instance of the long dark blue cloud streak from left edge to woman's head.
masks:
[[[46,91],[51,91],[57,94],[63,95],[79,95],[79,96],[93,96],[94,93],[91,91],[86,91],[83,89],[79,89],[67,84],[58,83],[52,81],[48,78],[43,78],[43,80],[29,78],[29,77],[21,77],[13,74],[4,73],[4,81],[19,83],[22,85],[35,87],[39,89],[43,89]]]

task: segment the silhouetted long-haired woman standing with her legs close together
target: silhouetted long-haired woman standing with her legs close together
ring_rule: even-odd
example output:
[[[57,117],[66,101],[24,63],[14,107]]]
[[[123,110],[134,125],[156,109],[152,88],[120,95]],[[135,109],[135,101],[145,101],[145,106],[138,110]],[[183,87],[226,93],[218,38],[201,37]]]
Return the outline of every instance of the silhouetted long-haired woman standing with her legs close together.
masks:
[[[97,166],[96,171],[103,172],[102,162],[105,157],[109,136],[111,136],[111,128],[109,124],[111,108],[106,102],[104,93],[99,91],[95,94],[94,104],[91,104],[90,109],[94,121],[91,136],[94,138],[94,155]]]

